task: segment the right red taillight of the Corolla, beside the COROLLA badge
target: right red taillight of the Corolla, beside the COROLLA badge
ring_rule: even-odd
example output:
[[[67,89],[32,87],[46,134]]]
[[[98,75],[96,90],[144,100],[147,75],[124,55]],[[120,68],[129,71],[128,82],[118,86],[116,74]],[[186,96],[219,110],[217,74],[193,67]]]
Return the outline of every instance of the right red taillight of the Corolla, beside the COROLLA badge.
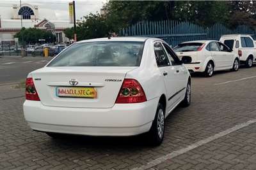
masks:
[[[116,98],[116,103],[142,103],[147,101],[140,83],[134,79],[125,79]]]

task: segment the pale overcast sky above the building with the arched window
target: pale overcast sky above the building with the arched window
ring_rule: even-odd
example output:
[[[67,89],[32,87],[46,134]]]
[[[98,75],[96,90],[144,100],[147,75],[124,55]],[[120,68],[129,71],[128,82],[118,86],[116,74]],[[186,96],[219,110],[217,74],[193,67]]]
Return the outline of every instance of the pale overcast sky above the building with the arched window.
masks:
[[[21,0],[22,4],[28,3],[38,6],[39,18],[50,20],[68,20],[68,3],[72,0]],[[100,8],[108,0],[76,0],[76,19],[89,13],[100,13]],[[0,15],[2,19],[12,17],[12,4],[19,6],[19,0],[0,0]]]

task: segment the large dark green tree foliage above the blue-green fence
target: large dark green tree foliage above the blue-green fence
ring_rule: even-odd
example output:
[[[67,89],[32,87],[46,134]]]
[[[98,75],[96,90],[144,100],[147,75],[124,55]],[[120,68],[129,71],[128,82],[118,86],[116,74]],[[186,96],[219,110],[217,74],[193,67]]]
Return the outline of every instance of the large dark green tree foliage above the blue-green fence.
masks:
[[[104,8],[106,16],[90,13],[77,23],[78,40],[105,37],[141,20],[188,21],[203,27],[256,26],[254,1],[109,1]],[[73,38],[73,29],[65,34]]]

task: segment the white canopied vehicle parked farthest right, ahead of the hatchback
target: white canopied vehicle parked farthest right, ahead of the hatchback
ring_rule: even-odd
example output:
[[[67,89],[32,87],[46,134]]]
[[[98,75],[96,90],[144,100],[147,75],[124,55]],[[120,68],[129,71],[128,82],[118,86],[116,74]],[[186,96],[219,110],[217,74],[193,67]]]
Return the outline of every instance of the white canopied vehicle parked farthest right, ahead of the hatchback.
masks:
[[[250,35],[230,34],[221,36],[220,41],[239,55],[240,62],[246,67],[252,67],[256,62],[256,48]]]

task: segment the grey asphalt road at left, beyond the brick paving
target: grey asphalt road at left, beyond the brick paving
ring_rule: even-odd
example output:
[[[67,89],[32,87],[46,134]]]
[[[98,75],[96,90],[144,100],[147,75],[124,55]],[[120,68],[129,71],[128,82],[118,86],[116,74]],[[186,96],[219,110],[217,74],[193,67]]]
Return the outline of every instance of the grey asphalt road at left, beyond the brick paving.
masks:
[[[0,84],[26,80],[29,72],[45,66],[52,57],[0,57]]]

